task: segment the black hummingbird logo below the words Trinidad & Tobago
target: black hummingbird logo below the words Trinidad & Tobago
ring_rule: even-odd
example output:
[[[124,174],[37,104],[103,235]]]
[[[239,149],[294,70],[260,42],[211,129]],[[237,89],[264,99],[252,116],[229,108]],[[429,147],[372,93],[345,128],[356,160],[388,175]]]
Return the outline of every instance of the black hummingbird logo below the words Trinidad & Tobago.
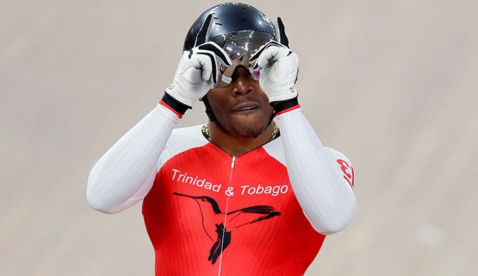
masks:
[[[212,244],[212,247],[209,251],[208,261],[210,261],[211,264],[215,264],[219,255],[221,255],[223,250],[229,246],[230,240],[231,240],[231,232],[232,232],[232,230],[230,230],[231,228],[232,229],[240,228],[242,226],[255,224],[259,221],[263,221],[265,219],[270,219],[272,217],[281,215],[281,213],[277,212],[274,207],[268,206],[268,205],[250,206],[250,207],[241,208],[238,210],[233,210],[233,211],[224,213],[219,208],[219,204],[217,204],[217,201],[215,201],[215,199],[213,199],[212,197],[184,195],[181,193],[173,193],[173,194],[181,196],[181,197],[189,197],[190,199],[194,199],[197,202],[199,206],[199,211],[201,212],[201,223],[202,223],[204,232],[206,233],[206,235],[208,235],[211,241],[213,242],[215,241],[215,243]],[[222,221],[220,223],[214,223],[215,232],[217,233],[217,238],[213,239],[210,233],[208,233],[208,230],[206,230],[205,221],[204,221],[205,215],[207,217],[212,216],[212,217],[218,217],[220,219],[223,219],[223,216],[219,216],[219,215],[227,215],[227,216],[232,215],[231,218],[228,219],[229,230],[226,229]],[[212,223],[211,221],[206,221],[206,224],[208,224],[208,222]],[[232,226],[230,226],[231,224]]]

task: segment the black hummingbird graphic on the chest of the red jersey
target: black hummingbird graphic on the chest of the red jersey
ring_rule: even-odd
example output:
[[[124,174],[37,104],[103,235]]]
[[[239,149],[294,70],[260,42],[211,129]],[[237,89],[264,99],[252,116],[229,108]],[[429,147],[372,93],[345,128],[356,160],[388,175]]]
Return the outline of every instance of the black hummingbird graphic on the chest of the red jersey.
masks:
[[[223,213],[221,211],[221,209],[219,208],[219,205],[217,204],[217,201],[215,201],[215,199],[213,199],[212,197],[184,195],[184,194],[181,194],[181,193],[173,193],[173,194],[174,195],[179,195],[181,197],[190,197],[192,199],[195,199],[195,201],[197,202],[197,204],[199,206],[199,210],[201,212],[201,221],[202,221],[204,232],[206,233],[206,235],[208,235],[208,237],[212,241],[214,241],[214,239],[212,239],[212,237],[209,235],[208,231],[206,230],[206,227],[204,226],[204,215],[205,214],[208,215],[208,213],[204,213],[204,212],[206,212],[206,210],[204,210],[204,212],[203,212],[203,208],[207,209],[207,206],[210,206],[210,208],[212,208],[212,215],[221,215],[221,214],[232,215],[232,214],[235,214],[231,219],[229,219],[229,221],[232,221],[232,220],[236,219],[241,214],[257,214],[254,217],[254,219],[252,219],[250,221],[239,223],[239,224],[233,226],[233,228],[239,228],[241,226],[245,226],[245,225],[248,225],[248,224],[254,224],[254,223],[262,221],[264,219],[270,219],[271,217],[281,215],[281,213],[277,212],[274,207],[268,206],[268,205],[250,206],[250,207],[246,207],[246,208],[241,208],[239,210],[234,210],[234,211],[230,211],[230,212],[227,212],[227,213]],[[216,239],[216,242],[212,245],[212,248],[209,252],[209,257],[208,257],[208,261],[211,261],[211,264],[215,264],[219,255],[221,255],[223,250],[226,249],[229,246],[230,239],[231,239],[231,231],[228,231],[222,222],[220,224],[215,224],[215,226],[216,226],[215,232],[217,233],[217,239]]]

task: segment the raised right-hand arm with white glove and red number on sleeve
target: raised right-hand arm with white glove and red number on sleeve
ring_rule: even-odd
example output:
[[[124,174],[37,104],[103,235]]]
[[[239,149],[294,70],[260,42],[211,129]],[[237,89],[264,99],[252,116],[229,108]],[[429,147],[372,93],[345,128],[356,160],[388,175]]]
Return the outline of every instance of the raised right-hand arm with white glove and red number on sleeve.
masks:
[[[280,18],[277,37],[280,43],[266,43],[250,63],[260,72],[260,86],[275,109],[290,184],[303,213],[317,232],[336,233],[352,221],[357,209],[352,167],[343,155],[332,157],[335,153],[322,146],[300,110],[295,89],[299,58],[290,50]]]

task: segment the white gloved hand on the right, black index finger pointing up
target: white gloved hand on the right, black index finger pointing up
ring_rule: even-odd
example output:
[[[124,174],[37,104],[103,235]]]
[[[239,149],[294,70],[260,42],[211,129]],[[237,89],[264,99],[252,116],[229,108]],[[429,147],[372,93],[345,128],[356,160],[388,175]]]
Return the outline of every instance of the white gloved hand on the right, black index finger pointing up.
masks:
[[[260,72],[259,85],[269,101],[286,101],[297,97],[295,81],[299,73],[299,57],[289,48],[289,41],[280,17],[277,17],[277,41],[261,46],[249,59]]]

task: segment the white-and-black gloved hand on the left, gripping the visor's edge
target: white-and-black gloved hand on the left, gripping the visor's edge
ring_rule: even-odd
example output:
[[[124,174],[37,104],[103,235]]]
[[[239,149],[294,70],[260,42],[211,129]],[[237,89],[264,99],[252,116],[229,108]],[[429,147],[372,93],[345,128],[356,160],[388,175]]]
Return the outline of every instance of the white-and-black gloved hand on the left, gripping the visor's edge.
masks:
[[[212,41],[207,41],[212,24],[212,14],[204,21],[196,37],[195,47],[184,51],[175,78],[165,92],[189,108],[215,87],[219,66],[232,66],[228,54]]]

